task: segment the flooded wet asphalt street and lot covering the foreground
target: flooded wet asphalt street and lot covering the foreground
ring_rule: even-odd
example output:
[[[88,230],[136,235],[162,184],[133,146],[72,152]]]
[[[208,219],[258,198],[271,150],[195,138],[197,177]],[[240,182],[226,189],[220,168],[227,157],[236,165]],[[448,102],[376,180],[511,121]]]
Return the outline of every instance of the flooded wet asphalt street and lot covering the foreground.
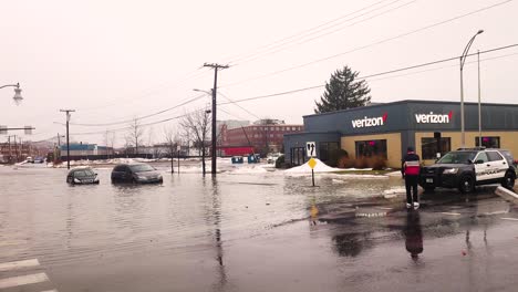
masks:
[[[112,185],[107,166],[99,186],[0,167],[0,291],[517,290],[518,208],[494,186],[407,211],[397,176],[313,188],[259,166],[157,167],[164,184],[144,186]]]

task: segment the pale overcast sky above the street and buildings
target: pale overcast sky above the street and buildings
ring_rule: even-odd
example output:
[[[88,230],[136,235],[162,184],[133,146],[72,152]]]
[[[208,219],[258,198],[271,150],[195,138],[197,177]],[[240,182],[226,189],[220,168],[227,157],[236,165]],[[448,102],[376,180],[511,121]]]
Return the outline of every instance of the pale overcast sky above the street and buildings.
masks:
[[[499,4],[501,3],[501,4]],[[473,13],[472,13],[473,12]],[[214,73],[205,62],[229,64],[218,75],[219,102],[324,84],[344,65],[367,76],[518,43],[518,1],[506,0],[191,0],[2,1],[0,125],[32,125],[46,139],[64,133],[60,108],[74,124],[108,124],[145,116],[200,96]],[[469,14],[470,13],[470,14]],[[480,55],[485,102],[518,103],[518,46]],[[487,60],[486,60],[487,59]],[[466,101],[477,100],[476,58],[465,67]],[[367,79],[373,102],[458,101],[458,60]],[[218,119],[271,117],[302,123],[323,88],[221,105]],[[203,108],[209,96],[142,119],[153,123]],[[76,140],[104,143],[117,129],[72,125]],[[152,142],[164,127],[146,127]],[[10,133],[21,134],[21,133]],[[118,146],[125,135],[116,133]],[[6,136],[0,136],[4,142]],[[146,134],[146,140],[148,134]]]

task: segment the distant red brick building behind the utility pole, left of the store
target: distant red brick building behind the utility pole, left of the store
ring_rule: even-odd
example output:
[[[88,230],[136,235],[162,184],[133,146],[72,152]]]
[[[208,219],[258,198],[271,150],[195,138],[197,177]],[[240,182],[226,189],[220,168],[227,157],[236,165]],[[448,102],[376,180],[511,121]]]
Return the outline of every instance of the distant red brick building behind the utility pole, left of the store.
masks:
[[[303,132],[303,125],[287,125],[281,121],[256,122],[253,125],[228,129],[221,126],[221,154],[226,148],[252,146],[255,153],[279,153],[282,150],[283,135]]]

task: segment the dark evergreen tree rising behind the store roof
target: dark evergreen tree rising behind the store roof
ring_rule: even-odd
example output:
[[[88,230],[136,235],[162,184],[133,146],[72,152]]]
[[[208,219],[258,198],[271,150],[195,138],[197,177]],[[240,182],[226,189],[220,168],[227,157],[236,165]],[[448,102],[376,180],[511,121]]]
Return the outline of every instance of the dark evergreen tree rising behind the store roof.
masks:
[[[331,74],[320,103],[314,102],[317,105],[314,113],[321,114],[367,105],[371,102],[371,95],[369,95],[371,90],[364,80],[356,80],[358,75],[359,72],[351,71],[349,66]]]

